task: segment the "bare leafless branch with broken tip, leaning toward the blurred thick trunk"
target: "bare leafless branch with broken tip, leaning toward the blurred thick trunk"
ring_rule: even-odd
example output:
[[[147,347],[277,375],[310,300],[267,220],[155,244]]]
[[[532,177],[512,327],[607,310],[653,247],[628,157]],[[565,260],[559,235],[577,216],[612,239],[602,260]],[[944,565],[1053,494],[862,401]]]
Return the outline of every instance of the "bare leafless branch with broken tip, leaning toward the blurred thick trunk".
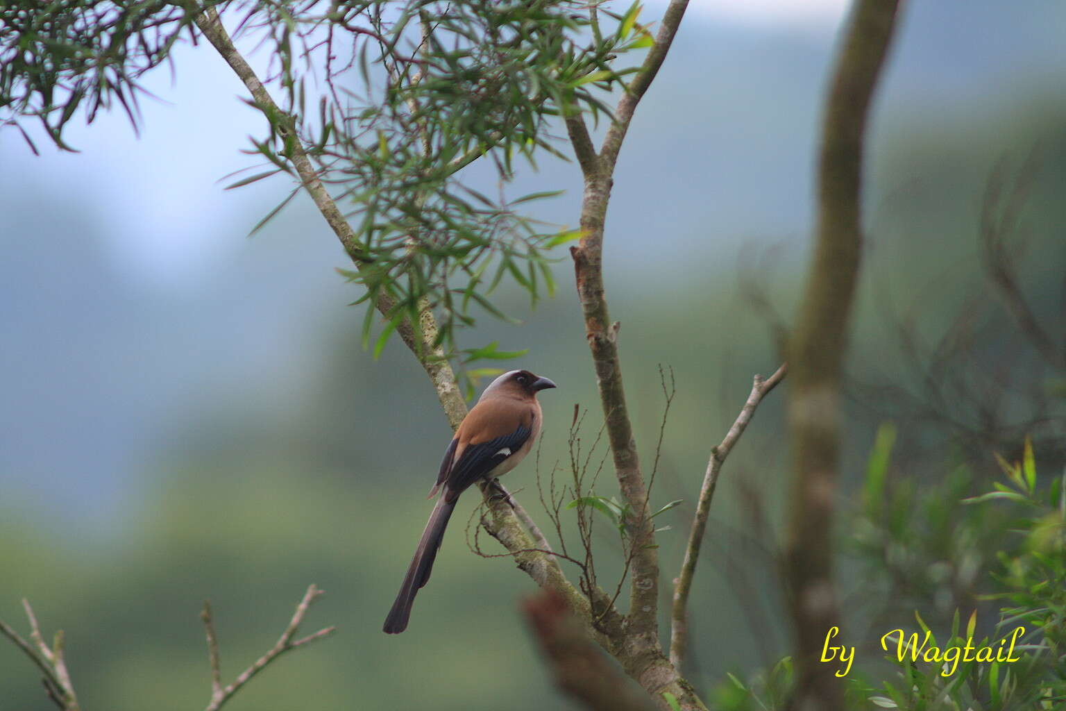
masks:
[[[692,589],[692,579],[696,572],[696,563],[699,561],[699,548],[704,540],[704,533],[707,531],[707,518],[711,512],[711,502],[714,499],[714,489],[718,483],[718,474],[726,457],[732,451],[733,446],[744,434],[748,422],[755,416],[755,408],[759,406],[762,399],[780,383],[788,372],[788,363],[782,363],[777,371],[762,379],[761,375],[756,375],[752,383],[752,392],[747,395],[747,401],[740,410],[740,415],[733,421],[729,432],[717,447],[711,449],[710,459],[707,462],[707,471],[704,473],[704,484],[699,489],[699,502],[696,504],[696,515],[692,519],[692,532],[689,534],[689,545],[684,549],[684,562],[681,564],[681,571],[674,580],[674,610],[671,621],[671,645],[669,661],[681,670],[684,656],[688,651],[689,640],[689,593]]]

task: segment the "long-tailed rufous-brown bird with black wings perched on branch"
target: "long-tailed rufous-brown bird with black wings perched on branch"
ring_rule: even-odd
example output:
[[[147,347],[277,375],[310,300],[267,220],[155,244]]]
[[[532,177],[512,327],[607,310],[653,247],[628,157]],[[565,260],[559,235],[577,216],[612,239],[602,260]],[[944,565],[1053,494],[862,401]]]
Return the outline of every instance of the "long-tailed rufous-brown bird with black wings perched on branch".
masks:
[[[437,483],[426,497],[433,498],[440,492],[400,593],[385,618],[383,630],[387,634],[399,634],[407,629],[415,595],[430,580],[433,561],[459,495],[471,484],[502,476],[529,454],[540,434],[540,403],[536,393],[554,387],[547,377],[528,370],[512,370],[489,383],[463,419],[445,451]]]

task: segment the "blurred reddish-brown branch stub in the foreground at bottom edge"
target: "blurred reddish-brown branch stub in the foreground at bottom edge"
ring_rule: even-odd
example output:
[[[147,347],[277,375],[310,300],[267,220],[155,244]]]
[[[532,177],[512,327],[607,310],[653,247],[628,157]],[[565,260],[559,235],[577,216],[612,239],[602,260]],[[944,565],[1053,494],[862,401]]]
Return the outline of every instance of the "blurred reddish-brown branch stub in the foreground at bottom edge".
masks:
[[[637,691],[585,635],[566,600],[543,591],[522,605],[555,684],[592,711],[653,711]]]

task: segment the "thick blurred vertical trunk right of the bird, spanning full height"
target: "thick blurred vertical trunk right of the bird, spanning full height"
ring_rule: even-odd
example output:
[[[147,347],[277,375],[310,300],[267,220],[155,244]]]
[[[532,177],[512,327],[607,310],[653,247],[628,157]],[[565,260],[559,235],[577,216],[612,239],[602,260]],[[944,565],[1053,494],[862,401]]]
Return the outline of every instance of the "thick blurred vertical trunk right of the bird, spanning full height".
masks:
[[[841,371],[862,245],[863,136],[898,5],[857,0],[844,28],[822,125],[813,258],[789,346],[794,480],[786,578],[796,634],[795,711],[837,711],[843,705],[840,680],[818,660],[826,630],[839,624],[833,523]]]

